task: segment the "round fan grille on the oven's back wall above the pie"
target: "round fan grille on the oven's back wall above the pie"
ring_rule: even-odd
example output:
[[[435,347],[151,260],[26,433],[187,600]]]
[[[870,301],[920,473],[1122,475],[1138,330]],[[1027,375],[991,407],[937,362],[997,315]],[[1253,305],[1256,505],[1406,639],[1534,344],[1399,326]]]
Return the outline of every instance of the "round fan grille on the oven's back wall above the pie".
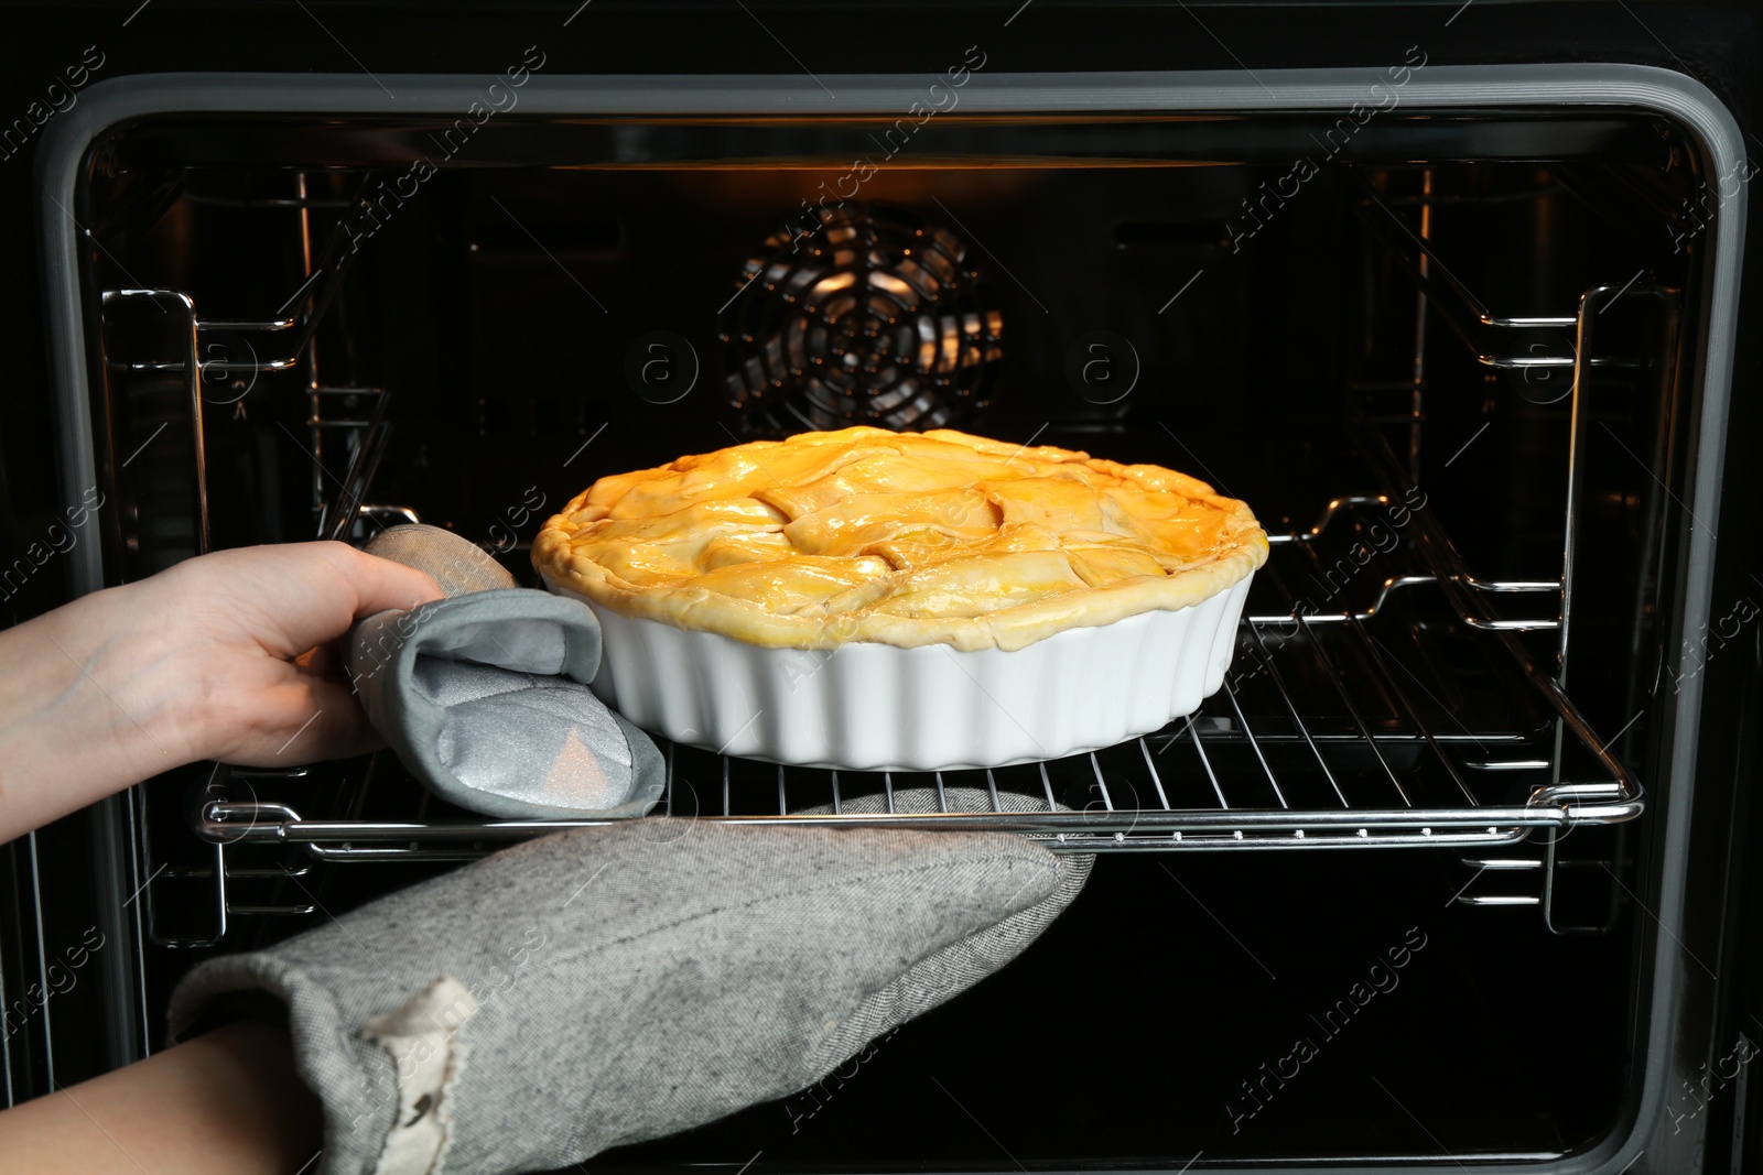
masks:
[[[721,314],[746,432],[943,428],[984,407],[1003,314],[968,245],[883,204],[822,210],[818,222],[770,236]]]

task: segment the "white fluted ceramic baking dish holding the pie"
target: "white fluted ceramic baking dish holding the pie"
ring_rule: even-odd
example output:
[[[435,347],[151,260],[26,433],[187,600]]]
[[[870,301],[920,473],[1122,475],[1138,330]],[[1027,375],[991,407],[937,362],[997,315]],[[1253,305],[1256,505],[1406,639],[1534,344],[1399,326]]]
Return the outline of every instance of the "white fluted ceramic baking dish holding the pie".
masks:
[[[1250,580],[1192,608],[1067,629],[1014,652],[765,648],[550,588],[599,617],[594,692],[647,731],[772,763],[931,772],[1112,747],[1192,713],[1231,668]]]

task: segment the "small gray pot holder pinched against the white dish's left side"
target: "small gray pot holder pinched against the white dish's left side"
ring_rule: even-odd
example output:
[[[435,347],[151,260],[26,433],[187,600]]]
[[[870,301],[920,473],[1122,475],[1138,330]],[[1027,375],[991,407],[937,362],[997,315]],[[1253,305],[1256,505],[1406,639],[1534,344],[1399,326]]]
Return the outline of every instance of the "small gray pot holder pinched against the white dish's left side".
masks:
[[[347,669],[368,721],[437,794],[504,819],[642,816],[666,765],[587,684],[599,622],[580,601],[515,587],[476,543],[391,527],[367,544],[427,571],[446,599],[361,620]]]

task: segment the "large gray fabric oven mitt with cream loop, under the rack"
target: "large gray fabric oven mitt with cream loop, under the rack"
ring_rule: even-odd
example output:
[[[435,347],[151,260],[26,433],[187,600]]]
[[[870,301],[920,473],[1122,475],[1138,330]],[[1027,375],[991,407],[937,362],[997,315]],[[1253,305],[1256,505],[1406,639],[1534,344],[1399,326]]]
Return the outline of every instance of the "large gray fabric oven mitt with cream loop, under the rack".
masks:
[[[286,1006],[321,1173],[562,1168],[807,1087],[1005,965],[1088,870],[1010,833],[580,828],[201,964],[171,1036]]]

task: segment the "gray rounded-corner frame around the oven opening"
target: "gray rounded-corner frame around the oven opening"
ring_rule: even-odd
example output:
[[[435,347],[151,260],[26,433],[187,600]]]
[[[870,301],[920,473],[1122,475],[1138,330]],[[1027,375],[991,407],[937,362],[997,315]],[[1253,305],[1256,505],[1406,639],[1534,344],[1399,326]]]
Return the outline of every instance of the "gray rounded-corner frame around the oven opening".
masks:
[[[971,74],[963,92],[968,113],[1197,113],[1197,111],[1347,111],[1366,100],[1379,81],[1375,69],[1241,72],[1074,72]],[[111,78],[81,92],[78,107],[46,129],[37,157],[33,192],[42,259],[44,305],[49,329],[49,368],[56,412],[56,451],[65,500],[100,477],[93,446],[92,372],[86,338],[90,307],[81,291],[81,236],[74,213],[78,188],[93,143],[122,123],[152,115],[286,111],[337,116],[457,115],[481,97],[481,78],[388,74],[379,79],[353,74],[245,74],[183,72]],[[555,76],[534,74],[522,90],[529,115],[663,116],[663,115],[882,115],[904,111],[922,95],[924,78],[850,74],[823,76]],[[397,99],[391,99],[391,92]],[[1416,72],[1402,90],[1405,107],[1500,106],[1620,106],[1670,118],[1696,146],[1701,174],[1724,176],[1745,162],[1744,134],[1728,107],[1692,78],[1647,65],[1433,65]],[[1745,236],[1745,201],[1726,201],[1707,234],[1705,287],[1700,291],[1701,338],[1689,349],[1700,368],[1685,386],[1696,395],[1689,407],[1691,514],[1703,525],[1689,528],[1684,562],[1677,569],[1680,610],[1668,634],[1671,648],[1705,632],[1712,617],[1715,530],[1721,474],[1738,329],[1738,282]],[[67,555],[74,594],[108,585],[100,544],[79,544]],[[1685,944],[1685,893],[1692,780],[1700,752],[1703,689],[1707,678],[1685,678],[1663,724],[1659,763],[1664,777],[1650,780],[1648,824],[1659,867],[1652,888],[1636,895],[1661,934],[1643,955],[1647,990],[1638,1015],[1645,1050],[1638,1097],[1627,1117],[1596,1147],[1571,1156],[1558,1171],[1620,1171],[1643,1156],[1659,1170],[1700,1164],[1710,1119],[1682,1129],[1673,1120],[1670,1096],[1692,1082],[1701,1066],[1721,1053],[1714,1038],[1715,1004],[1692,969],[1696,955]],[[129,796],[95,805],[92,846],[100,863],[97,920],[120,950],[104,951],[97,964],[104,985],[104,1055],[111,1064],[136,1059],[148,1039],[146,1009],[134,992],[134,957],[141,950],[139,905],[127,895],[143,879],[130,877],[132,809]],[[139,872],[139,870],[134,870]],[[1698,942],[1700,944],[1700,942]],[[1650,967],[1648,967],[1650,964]],[[1685,1009],[1694,1009],[1685,1015]],[[1571,1015],[1571,1006],[1564,1011]],[[1428,1166],[1391,1166],[1391,1171],[1430,1171]],[[1525,1171],[1532,1166],[1486,1170]]]

